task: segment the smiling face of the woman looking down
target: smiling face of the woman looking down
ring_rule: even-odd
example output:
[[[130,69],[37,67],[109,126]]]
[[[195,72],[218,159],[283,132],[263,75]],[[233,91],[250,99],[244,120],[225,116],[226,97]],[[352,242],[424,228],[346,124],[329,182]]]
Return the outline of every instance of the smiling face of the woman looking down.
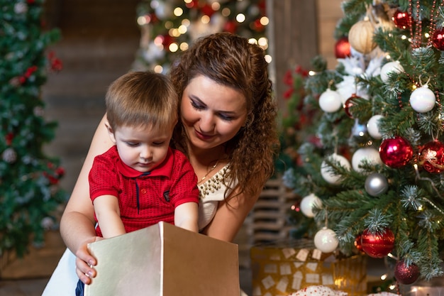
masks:
[[[245,124],[246,99],[236,89],[196,76],[184,89],[182,123],[195,148],[209,149],[230,140]]]

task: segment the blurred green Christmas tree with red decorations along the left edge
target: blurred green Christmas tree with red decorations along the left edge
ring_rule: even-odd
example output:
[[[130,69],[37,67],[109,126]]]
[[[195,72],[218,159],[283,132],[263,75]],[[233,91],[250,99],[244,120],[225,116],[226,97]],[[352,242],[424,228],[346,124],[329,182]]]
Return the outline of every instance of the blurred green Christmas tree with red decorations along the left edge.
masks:
[[[0,4],[0,256],[22,256],[31,240],[43,243],[45,229],[55,225],[55,209],[66,201],[57,187],[63,169],[43,153],[56,123],[45,121],[40,97],[46,72],[61,67],[45,53],[60,33],[43,31],[43,1]]]

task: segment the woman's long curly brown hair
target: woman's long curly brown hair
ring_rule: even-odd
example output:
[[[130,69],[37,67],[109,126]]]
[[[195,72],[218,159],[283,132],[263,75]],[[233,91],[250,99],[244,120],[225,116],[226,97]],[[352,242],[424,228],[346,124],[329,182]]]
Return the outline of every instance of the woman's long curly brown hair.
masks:
[[[264,50],[231,33],[207,35],[196,40],[172,65],[170,77],[180,100],[185,87],[197,75],[237,89],[245,96],[245,126],[226,143],[228,178],[238,180],[239,193],[257,196],[274,171],[274,156],[279,148],[277,105]],[[184,137],[179,122],[173,145],[187,153]]]

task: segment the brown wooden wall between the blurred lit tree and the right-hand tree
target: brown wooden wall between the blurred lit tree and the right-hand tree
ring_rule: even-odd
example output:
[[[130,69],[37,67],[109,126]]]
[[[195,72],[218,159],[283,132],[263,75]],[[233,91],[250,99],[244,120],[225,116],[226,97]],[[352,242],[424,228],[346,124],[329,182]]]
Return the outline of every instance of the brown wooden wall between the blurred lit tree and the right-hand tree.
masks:
[[[272,79],[279,107],[284,108],[285,72],[300,65],[310,68],[316,55],[323,55],[328,67],[336,65],[333,31],[343,17],[343,0],[267,0],[270,16]]]

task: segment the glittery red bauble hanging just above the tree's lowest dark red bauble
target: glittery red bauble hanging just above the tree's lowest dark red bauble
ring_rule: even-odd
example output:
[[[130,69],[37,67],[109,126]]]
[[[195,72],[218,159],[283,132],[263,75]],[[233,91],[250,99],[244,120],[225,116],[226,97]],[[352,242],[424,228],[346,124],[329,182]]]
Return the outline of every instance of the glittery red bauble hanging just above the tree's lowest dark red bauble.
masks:
[[[384,258],[394,247],[394,234],[390,229],[383,233],[372,234],[368,229],[362,232],[362,251],[373,258]]]

